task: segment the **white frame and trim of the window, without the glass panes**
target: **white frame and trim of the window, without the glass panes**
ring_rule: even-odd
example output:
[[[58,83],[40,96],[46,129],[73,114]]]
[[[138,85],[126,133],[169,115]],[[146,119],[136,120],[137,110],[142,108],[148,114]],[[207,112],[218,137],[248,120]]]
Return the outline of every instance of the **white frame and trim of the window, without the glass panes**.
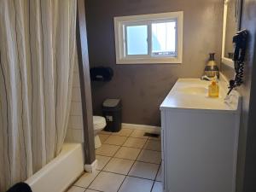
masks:
[[[183,61],[183,11],[152,15],[114,17],[116,64],[182,63]],[[152,55],[152,23],[176,21],[177,57]],[[127,26],[148,26],[148,55],[127,55]]]

